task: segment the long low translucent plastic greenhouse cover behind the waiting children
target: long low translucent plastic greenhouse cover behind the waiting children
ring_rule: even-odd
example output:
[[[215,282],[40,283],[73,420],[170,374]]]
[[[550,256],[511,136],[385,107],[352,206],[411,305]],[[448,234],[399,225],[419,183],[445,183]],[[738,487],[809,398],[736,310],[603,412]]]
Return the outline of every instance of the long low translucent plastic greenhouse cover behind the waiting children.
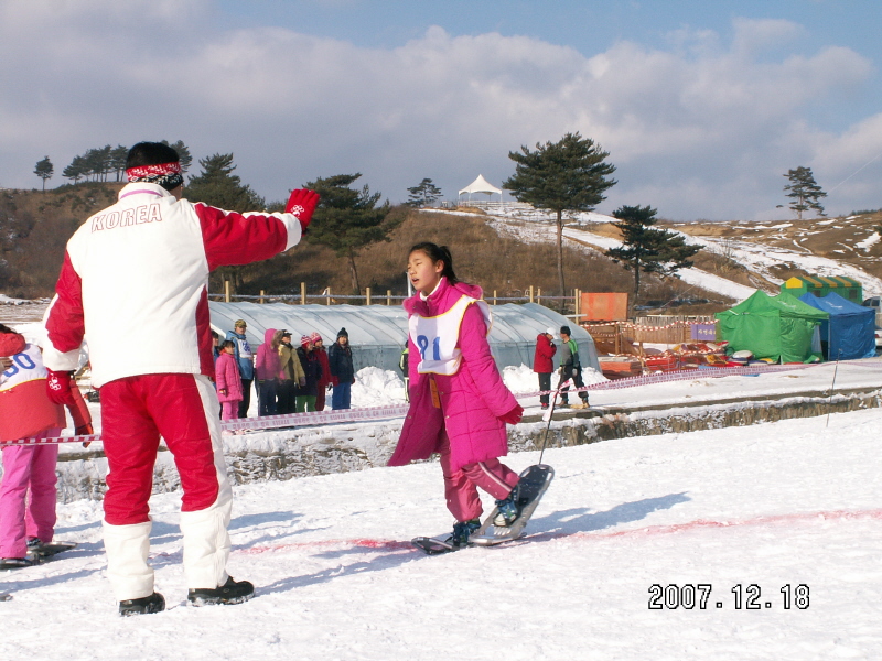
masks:
[[[247,336],[254,350],[263,343],[267,328],[284,328],[291,333],[291,344],[298,345],[301,335],[318,330],[325,348],[346,328],[352,346],[353,365],[398,371],[398,361],[407,342],[407,314],[400,305],[287,305],[272,303],[209,302],[212,328],[222,337],[233,329],[236,319],[248,324]],[[508,366],[533,367],[536,336],[549,326],[567,325],[579,345],[584,367],[600,371],[594,340],[588,332],[557,312],[536,303],[491,305],[493,327],[490,346],[499,369]],[[559,338],[558,342],[559,343]],[[557,365],[557,362],[556,362]]]

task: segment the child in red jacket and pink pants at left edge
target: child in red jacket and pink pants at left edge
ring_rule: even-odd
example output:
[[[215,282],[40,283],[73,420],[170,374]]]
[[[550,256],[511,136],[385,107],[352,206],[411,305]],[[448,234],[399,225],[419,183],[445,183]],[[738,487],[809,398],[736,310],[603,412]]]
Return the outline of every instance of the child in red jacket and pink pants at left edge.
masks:
[[[64,408],[46,397],[47,372],[40,348],[0,324],[0,356],[9,357],[9,366],[0,373],[0,441],[61,435]],[[92,434],[92,416],[82,397],[72,414],[76,433]],[[14,570],[34,564],[29,552],[39,553],[40,546],[49,544],[54,535],[58,446],[0,447],[0,570]]]

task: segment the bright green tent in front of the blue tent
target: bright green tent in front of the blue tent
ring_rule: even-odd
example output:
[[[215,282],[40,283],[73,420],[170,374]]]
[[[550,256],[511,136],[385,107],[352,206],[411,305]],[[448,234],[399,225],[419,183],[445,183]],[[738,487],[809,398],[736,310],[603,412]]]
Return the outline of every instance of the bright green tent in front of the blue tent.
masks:
[[[820,359],[811,349],[815,328],[830,318],[829,313],[807,305],[786,293],[770,296],[756,290],[731,310],[714,315],[718,336],[733,351],[750,350],[757,358],[781,362],[809,362]]]

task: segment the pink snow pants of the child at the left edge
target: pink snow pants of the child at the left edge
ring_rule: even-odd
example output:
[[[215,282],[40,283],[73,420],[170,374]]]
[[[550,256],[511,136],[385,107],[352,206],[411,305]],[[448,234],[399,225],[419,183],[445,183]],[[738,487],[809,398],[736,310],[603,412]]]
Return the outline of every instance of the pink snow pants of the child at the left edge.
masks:
[[[35,438],[61,435],[61,427]],[[55,532],[55,462],[58,446],[4,445],[3,480],[0,483],[0,557],[24,557],[28,538],[52,541]],[[28,491],[30,502],[25,505]]]

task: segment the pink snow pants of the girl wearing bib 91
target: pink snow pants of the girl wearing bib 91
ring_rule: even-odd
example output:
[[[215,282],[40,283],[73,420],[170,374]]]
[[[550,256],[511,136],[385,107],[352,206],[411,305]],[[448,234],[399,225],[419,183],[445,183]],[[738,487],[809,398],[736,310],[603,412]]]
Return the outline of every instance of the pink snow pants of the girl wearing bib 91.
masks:
[[[517,484],[518,475],[499,459],[487,459],[467,464],[459,470],[450,469],[450,440],[444,440],[439,448],[441,453],[441,473],[444,475],[444,496],[448,509],[456,521],[469,521],[481,516],[481,498],[477,487],[484,489],[496,500],[502,500],[512,492]]]

